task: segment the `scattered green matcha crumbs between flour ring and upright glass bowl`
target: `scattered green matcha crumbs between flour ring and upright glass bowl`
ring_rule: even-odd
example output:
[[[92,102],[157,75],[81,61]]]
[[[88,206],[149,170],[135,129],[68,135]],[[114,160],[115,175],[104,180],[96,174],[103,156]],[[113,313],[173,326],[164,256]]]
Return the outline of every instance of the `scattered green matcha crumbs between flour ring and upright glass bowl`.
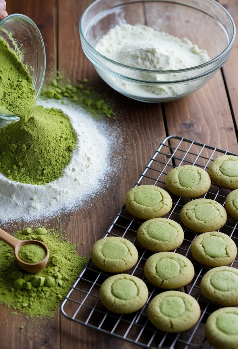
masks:
[[[58,73],[58,76],[53,80],[51,79],[50,83],[44,84],[41,96],[46,99],[61,99],[61,103],[65,105],[78,105],[95,119],[114,118],[114,103],[105,94],[99,94],[93,87],[89,86],[86,78],[74,86],[72,82],[68,79],[65,80],[62,74]]]

